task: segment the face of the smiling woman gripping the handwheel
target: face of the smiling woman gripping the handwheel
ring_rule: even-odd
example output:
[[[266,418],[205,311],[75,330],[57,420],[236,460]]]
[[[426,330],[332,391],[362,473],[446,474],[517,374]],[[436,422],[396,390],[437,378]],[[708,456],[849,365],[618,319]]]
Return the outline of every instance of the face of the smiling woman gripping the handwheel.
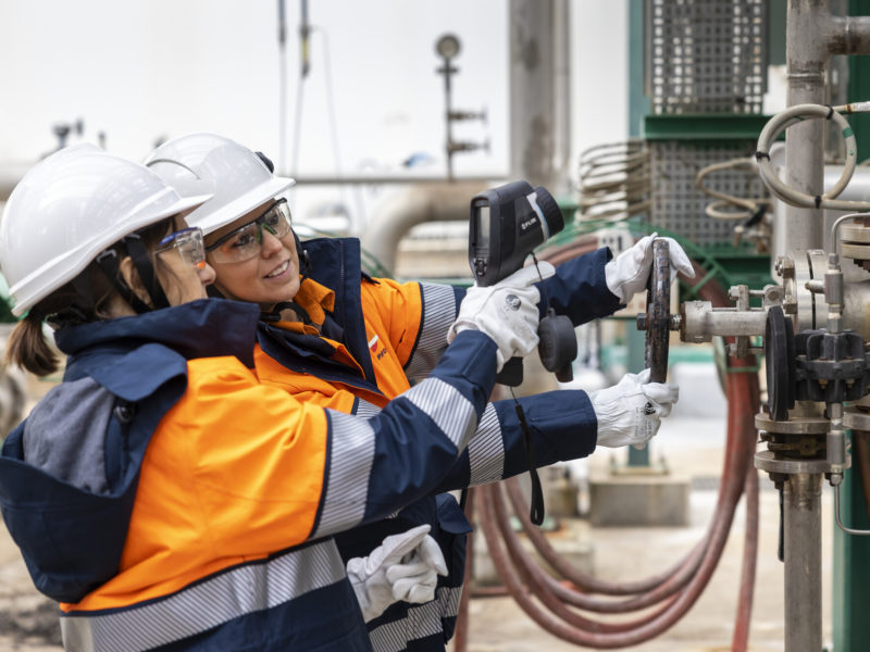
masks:
[[[227,235],[237,231],[250,224],[270,206],[275,204],[269,201],[246,213],[235,222],[209,234],[206,237],[206,247],[211,247],[222,241]],[[247,229],[246,229],[247,230]],[[217,277],[214,287],[227,299],[250,301],[258,303],[261,310],[271,311],[282,301],[291,301],[299,291],[299,258],[296,253],[296,242],[293,230],[278,238],[269,228],[260,228],[262,234],[259,251],[256,255],[237,262],[220,262],[216,252],[209,252],[209,264],[214,267]],[[246,241],[250,233],[243,231],[223,240],[221,248],[247,247]]]

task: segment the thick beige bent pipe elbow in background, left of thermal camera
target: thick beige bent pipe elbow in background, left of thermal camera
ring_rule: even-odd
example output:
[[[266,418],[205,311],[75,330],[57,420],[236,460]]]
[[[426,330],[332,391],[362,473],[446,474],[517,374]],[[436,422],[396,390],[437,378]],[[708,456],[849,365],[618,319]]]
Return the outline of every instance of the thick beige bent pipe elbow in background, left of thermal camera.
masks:
[[[481,181],[442,181],[400,190],[369,221],[362,247],[394,273],[399,240],[411,227],[423,222],[468,221],[471,198],[486,187]]]

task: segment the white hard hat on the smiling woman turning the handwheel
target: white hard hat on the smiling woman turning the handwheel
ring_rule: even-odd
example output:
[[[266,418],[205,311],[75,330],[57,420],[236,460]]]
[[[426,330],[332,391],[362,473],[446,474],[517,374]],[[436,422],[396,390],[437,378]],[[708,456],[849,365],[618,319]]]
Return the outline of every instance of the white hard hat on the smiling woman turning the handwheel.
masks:
[[[157,148],[145,164],[179,195],[214,196],[187,216],[208,235],[290,188],[296,181],[272,174],[247,147],[215,134],[181,136]]]

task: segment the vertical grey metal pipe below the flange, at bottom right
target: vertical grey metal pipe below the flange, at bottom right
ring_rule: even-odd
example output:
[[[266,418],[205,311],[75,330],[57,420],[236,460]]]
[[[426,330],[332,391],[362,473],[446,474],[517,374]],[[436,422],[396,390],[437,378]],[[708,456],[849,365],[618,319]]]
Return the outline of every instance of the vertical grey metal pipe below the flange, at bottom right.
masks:
[[[822,649],[822,475],[795,473],[783,488],[785,652]]]

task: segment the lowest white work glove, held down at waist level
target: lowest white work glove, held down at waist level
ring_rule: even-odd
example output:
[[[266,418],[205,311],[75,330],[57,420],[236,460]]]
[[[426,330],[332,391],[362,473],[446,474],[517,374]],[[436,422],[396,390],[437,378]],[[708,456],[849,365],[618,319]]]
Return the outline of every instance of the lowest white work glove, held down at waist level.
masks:
[[[368,623],[394,602],[422,604],[435,598],[438,575],[447,575],[438,543],[428,525],[390,535],[369,556],[347,563],[347,576]]]

